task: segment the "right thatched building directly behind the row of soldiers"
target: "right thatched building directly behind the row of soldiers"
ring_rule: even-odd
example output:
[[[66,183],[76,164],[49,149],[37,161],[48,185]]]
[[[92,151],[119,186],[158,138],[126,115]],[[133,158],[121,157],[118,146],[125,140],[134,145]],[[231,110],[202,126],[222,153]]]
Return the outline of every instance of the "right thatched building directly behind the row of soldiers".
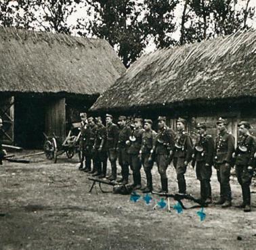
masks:
[[[255,107],[256,32],[250,31],[143,55],[91,110],[140,112],[153,119],[161,114],[173,127],[181,116],[188,119],[188,130],[205,121],[213,135],[221,116],[236,136],[240,120],[256,128]]]

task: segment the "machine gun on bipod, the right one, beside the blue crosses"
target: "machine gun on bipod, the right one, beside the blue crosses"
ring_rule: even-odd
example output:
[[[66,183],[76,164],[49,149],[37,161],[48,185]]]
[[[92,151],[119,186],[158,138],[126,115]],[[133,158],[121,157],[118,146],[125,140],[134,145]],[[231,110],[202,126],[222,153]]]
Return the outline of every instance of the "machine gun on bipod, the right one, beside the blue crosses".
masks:
[[[158,193],[158,192],[154,192],[154,191],[152,191],[152,194],[153,195],[159,195],[159,196],[165,197],[165,199],[167,199],[167,201],[168,201],[168,211],[171,211],[169,198],[173,198],[175,201],[177,201],[182,206],[183,209],[192,209],[192,208],[195,208],[195,207],[205,207],[207,205],[205,203],[205,201],[202,201],[201,199],[196,199],[196,198],[192,197],[192,195]],[[184,203],[182,203],[183,199],[187,199],[189,201],[194,201],[198,205],[193,205],[192,207],[185,207]]]

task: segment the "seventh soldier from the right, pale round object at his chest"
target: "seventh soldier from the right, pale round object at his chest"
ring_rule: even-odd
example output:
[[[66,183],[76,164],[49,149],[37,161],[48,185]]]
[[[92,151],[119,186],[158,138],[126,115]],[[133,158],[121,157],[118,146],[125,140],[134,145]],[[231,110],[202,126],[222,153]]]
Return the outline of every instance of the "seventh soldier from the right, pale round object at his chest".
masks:
[[[142,146],[142,118],[134,119],[134,129],[131,132],[129,141],[127,141],[128,153],[129,153],[129,163],[131,170],[133,171],[133,189],[142,188],[142,178],[140,174],[140,169],[142,168],[142,162],[140,161],[140,148]]]

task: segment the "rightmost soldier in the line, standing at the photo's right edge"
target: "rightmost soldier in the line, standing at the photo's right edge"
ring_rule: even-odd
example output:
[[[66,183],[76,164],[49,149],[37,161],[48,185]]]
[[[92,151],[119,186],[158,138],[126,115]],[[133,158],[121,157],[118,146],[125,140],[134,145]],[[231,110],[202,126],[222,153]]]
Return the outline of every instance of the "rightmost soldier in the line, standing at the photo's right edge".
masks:
[[[236,177],[242,187],[242,204],[238,207],[244,211],[251,211],[251,179],[253,177],[253,161],[255,154],[255,139],[250,134],[249,122],[242,121],[238,124],[239,139],[236,151],[233,153],[236,164]]]

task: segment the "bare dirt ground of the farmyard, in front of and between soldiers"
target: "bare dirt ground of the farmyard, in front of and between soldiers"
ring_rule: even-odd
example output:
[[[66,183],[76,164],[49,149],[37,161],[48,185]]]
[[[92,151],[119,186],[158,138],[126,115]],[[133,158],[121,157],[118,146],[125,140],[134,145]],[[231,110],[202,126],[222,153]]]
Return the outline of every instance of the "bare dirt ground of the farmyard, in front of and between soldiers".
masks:
[[[251,213],[211,205],[205,208],[206,218],[201,222],[196,214],[200,208],[182,214],[175,209],[171,213],[166,208],[154,210],[160,200],[157,196],[146,205],[143,199],[130,201],[129,195],[101,193],[100,189],[98,194],[96,190],[89,193],[89,174],[78,170],[77,155],[73,159],[63,155],[57,164],[44,155],[30,160],[30,164],[5,161],[0,167],[0,249],[255,249],[255,193]],[[156,166],[153,172],[158,188]],[[168,175],[169,191],[175,192],[172,167]],[[192,168],[186,179],[188,193],[198,197],[199,183]],[[213,199],[217,199],[215,170],[211,183]],[[231,184],[236,205],[241,195],[235,177]],[[104,189],[111,191],[112,187],[105,185]],[[171,200],[172,206],[175,203]]]

